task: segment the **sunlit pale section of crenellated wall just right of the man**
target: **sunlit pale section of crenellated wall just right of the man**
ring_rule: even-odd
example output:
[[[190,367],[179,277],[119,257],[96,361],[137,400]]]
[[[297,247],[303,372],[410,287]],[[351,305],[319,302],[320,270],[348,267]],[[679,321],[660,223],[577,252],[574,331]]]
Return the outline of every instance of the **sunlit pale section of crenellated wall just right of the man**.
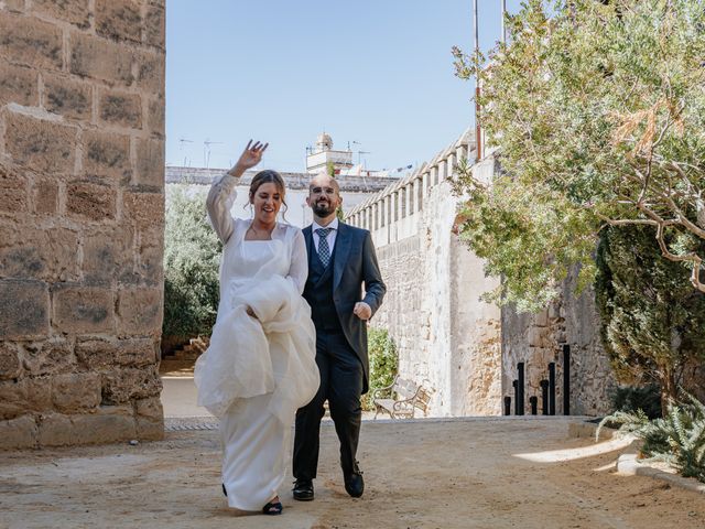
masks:
[[[467,158],[468,138],[348,216],[371,230],[388,289],[371,324],[393,337],[400,375],[433,391],[432,415],[501,411],[500,313],[479,301],[497,280],[453,234],[457,198],[447,177]]]

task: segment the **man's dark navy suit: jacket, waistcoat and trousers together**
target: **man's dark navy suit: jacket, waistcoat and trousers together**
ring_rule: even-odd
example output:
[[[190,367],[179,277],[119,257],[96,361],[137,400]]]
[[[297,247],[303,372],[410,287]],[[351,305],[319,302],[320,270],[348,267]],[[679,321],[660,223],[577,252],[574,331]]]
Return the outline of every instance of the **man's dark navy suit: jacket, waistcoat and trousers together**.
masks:
[[[308,250],[308,279],[303,295],[316,326],[321,387],[313,400],[296,412],[293,474],[297,479],[314,479],[326,399],[340,441],[343,473],[347,475],[356,468],[360,396],[368,389],[369,361],[367,322],[352,314],[352,310],[358,301],[364,301],[375,314],[386,287],[369,231],[339,223],[327,267],[318,258],[311,226],[303,233]]]

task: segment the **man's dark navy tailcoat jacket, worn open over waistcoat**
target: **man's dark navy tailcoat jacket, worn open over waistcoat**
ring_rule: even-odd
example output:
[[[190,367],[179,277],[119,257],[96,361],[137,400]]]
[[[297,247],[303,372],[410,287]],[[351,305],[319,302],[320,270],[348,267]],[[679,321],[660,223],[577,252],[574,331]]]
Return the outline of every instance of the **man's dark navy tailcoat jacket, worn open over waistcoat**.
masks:
[[[303,229],[310,258],[311,253],[316,251],[311,229],[311,226]],[[365,369],[362,392],[365,393],[368,390],[369,380],[367,322],[352,314],[352,309],[355,303],[364,301],[370,305],[373,315],[382,304],[387,287],[379,271],[372,236],[367,229],[338,223],[333,251],[335,255],[333,302],[345,337],[362,363]],[[362,285],[365,285],[365,298],[362,298]],[[305,290],[304,298],[306,298]]]

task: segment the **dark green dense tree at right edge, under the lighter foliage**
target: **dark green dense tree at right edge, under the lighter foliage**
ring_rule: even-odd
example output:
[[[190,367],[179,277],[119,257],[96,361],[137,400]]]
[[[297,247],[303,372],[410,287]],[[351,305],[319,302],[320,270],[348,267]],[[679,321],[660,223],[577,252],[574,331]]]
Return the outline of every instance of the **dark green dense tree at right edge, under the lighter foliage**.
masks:
[[[657,384],[665,411],[680,387],[697,389],[683,375],[705,359],[705,295],[688,284],[684,267],[661,255],[646,226],[603,230],[597,267],[595,296],[612,369],[623,384]]]

